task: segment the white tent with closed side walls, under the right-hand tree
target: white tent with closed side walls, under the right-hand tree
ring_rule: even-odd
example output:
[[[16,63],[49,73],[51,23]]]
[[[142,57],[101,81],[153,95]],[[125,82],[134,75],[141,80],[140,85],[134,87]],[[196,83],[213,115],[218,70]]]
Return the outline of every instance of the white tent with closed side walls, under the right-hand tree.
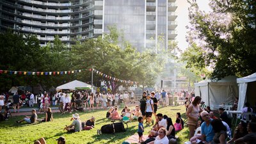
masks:
[[[233,103],[238,95],[237,76],[227,76],[219,81],[205,79],[195,83],[195,95],[200,96],[206,106],[218,109],[222,103]]]

